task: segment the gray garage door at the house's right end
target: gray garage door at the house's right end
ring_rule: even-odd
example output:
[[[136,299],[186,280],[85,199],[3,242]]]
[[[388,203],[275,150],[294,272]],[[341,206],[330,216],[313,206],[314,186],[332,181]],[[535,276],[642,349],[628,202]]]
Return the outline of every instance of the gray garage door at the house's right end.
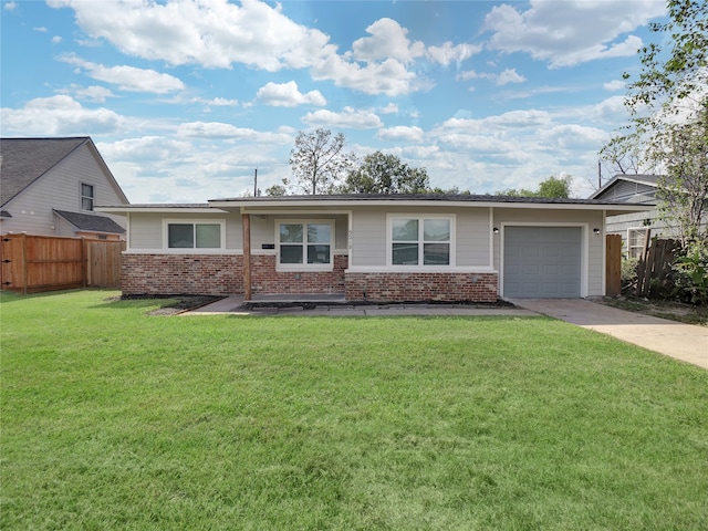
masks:
[[[580,227],[507,227],[504,296],[579,298],[581,235]]]

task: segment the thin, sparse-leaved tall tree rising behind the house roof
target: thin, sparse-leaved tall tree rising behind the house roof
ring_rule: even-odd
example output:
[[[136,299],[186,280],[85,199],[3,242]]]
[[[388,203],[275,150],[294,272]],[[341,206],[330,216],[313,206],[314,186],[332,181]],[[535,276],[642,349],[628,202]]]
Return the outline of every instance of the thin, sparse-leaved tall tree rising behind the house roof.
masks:
[[[354,164],[354,155],[344,152],[342,133],[330,129],[300,132],[288,160],[305,194],[331,194]]]

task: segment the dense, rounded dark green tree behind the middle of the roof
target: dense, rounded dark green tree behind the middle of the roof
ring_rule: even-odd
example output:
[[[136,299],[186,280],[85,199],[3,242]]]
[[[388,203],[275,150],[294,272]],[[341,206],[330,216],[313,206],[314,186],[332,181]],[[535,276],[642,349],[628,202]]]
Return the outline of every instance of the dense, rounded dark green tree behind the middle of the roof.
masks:
[[[350,171],[343,194],[424,194],[429,187],[425,168],[412,168],[395,155],[375,152]]]

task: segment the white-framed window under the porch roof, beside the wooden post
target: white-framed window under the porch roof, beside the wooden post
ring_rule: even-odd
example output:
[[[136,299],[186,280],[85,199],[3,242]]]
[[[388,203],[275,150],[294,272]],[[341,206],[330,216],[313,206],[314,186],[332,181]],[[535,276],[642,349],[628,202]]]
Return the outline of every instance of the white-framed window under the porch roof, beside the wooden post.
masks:
[[[281,269],[331,269],[333,223],[278,222],[278,266]]]

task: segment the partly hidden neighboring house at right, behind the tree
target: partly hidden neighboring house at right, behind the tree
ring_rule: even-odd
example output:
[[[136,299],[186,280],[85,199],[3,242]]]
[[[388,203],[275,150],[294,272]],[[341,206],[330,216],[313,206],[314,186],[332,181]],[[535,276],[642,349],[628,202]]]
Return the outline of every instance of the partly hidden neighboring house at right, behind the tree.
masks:
[[[590,199],[621,201],[636,205],[656,205],[658,175],[615,175],[605,186],[600,188]],[[656,208],[644,212],[631,212],[607,216],[605,230],[608,235],[621,235],[623,254],[627,258],[639,258],[644,252],[647,229],[652,236],[667,236],[670,228],[659,220]]]

